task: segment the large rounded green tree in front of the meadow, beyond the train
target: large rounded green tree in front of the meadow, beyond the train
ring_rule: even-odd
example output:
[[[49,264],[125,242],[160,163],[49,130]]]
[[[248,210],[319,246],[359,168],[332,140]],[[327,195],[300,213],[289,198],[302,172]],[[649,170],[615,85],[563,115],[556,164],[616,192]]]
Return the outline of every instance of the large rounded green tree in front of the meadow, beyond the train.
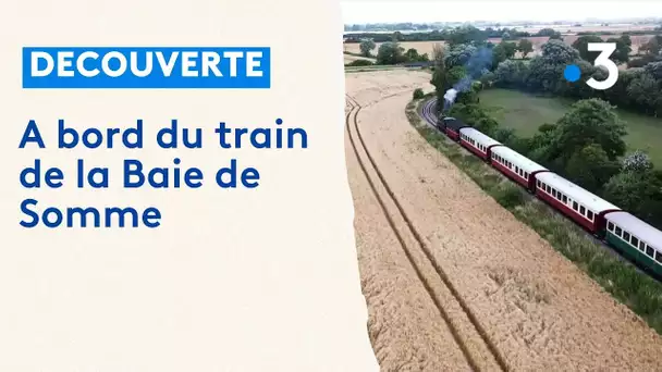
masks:
[[[560,159],[565,165],[569,157],[594,144],[614,161],[625,153],[626,134],[614,107],[597,98],[580,100],[556,122],[548,159]]]

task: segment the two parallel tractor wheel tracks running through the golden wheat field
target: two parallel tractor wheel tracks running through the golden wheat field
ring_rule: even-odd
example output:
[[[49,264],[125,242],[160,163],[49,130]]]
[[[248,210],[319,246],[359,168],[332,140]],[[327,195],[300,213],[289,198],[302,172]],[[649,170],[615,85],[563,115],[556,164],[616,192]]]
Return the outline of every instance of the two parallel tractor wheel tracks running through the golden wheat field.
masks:
[[[490,339],[478,318],[467,306],[465,299],[457,292],[443,268],[431,253],[430,248],[412,223],[412,220],[407,216],[407,213],[402,208],[397,197],[389,186],[389,183],[370,154],[370,150],[366,146],[357,120],[358,113],[364,107],[348,95],[346,95],[346,100],[350,110],[345,116],[345,131],[347,131],[359,166],[389,222],[390,228],[395,234],[395,237],[409,263],[414,268],[418,280],[432,299],[436,308],[439,310],[440,317],[451,330],[453,339],[462,350],[467,363],[474,371],[510,371],[511,369],[501,355],[501,351],[495,347],[493,340]],[[388,204],[394,206],[394,208],[389,208]],[[405,239],[403,234],[410,234],[414,238]],[[414,243],[407,244],[406,241]],[[422,261],[425,262],[421,262],[420,258],[422,258]],[[433,270],[426,271],[425,268],[422,268],[424,265],[432,268]],[[450,293],[449,297],[452,298],[451,302],[441,300],[440,290],[438,289],[440,286],[444,293]],[[450,309],[461,309],[461,311],[458,311],[459,315],[457,312],[450,311]],[[470,335],[466,328],[461,326],[462,324],[470,324],[467,325],[467,327],[471,328],[469,332]],[[476,346],[477,344],[480,345]],[[477,352],[477,349],[488,350],[485,352],[488,356]],[[477,356],[476,354],[479,355]]]

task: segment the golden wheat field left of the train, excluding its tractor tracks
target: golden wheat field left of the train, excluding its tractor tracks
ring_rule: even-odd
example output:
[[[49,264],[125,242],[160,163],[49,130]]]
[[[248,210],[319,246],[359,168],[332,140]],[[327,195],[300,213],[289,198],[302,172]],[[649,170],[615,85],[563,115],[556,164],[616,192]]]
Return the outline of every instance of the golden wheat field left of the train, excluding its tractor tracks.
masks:
[[[660,370],[662,339],[652,330],[485,195],[409,125],[405,106],[415,88],[431,89],[429,79],[429,74],[406,71],[347,74],[346,90],[364,107],[357,115],[359,131],[395,199],[508,367]],[[397,239],[389,238],[384,212],[370,197],[348,139],[346,147],[370,334],[382,369],[403,370],[397,363],[410,358],[427,362],[404,370],[470,368],[451,334],[455,330],[478,369],[499,370],[429,260],[418,252],[413,264]],[[387,211],[397,220],[393,201]],[[416,251],[404,225],[396,222],[395,230],[408,236],[404,245]],[[422,276],[416,275],[416,265]],[[434,298],[448,308],[450,321],[434,311]]]

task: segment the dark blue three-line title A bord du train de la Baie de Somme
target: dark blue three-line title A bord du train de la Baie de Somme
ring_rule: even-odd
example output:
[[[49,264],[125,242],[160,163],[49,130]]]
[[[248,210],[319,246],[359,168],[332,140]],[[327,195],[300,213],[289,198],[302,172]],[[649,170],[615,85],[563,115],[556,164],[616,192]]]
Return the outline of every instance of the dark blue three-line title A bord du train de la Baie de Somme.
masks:
[[[231,127],[221,122],[218,126],[207,128],[213,129],[211,148],[220,149],[306,149],[308,148],[308,135],[305,129],[283,128],[283,121],[275,120],[273,127]],[[143,131],[144,123],[138,120],[132,127],[99,129],[88,127],[77,131],[65,126],[63,120],[58,122],[58,149],[143,149],[145,148],[145,136]],[[203,128],[180,127],[176,120],[172,120],[169,126],[161,127],[156,133],[156,144],[160,149],[201,149],[204,142]],[[49,147],[39,131],[37,123],[33,120],[26,126],[21,138],[19,148],[39,148]],[[212,160],[216,162],[216,160]],[[172,164],[164,168],[148,168],[138,159],[124,159],[122,162],[122,186],[133,189],[140,187],[149,188],[199,188],[204,184],[204,172],[195,166],[181,166],[182,160],[175,157]],[[26,189],[35,188],[61,188],[65,186],[64,172],[57,166],[47,166],[41,159],[35,159],[33,165],[23,169],[20,174],[21,185]],[[109,168],[90,166],[84,159],[75,160],[75,178],[71,179],[77,188],[109,188],[113,183],[110,182],[111,172]],[[98,164],[95,164],[98,165]],[[114,173],[114,172],[113,172]],[[230,159],[230,164],[216,169],[213,183],[217,187],[232,189],[237,187],[256,188],[259,186],[260,173],[252,166],[240,166],[237,159]],[[131,207],[118,208],[107,207],[105,212],[93,207],[70,207],[61,211],[56,207],[49,207],[39,211],[38,201],[25,199],[21,203],[21,212],[28,216],[27,221],[21,221],[24,227],[35,227],[41,220],[47,227],[58,227],[66,225],[73,227],[79,221],[81,227],[94,226],[112,227],[112,219],[115,216],[119,227],[124,227],[127,215],[133,216],[130,223],[133,227],[143,225],[157,227],[160,225],[161,212],[150,207],[143,211],[142,219],[138,212]],[[41,219],[40,219],[41,216]],[[102,218],[105,216],[105,218]],[[105,220],[105,221],[102,221]],[[91,221],[91,222],[90,222]]]

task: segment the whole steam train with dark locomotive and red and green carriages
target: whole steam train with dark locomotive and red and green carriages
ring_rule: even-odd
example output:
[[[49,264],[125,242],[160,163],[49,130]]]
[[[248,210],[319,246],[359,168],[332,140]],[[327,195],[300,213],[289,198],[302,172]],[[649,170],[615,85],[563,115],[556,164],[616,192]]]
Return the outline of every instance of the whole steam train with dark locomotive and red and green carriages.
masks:
[[[458,119],[442,116],[431,122],[449,138],[530,194],[637,262],[653,276],[662,277],[662,232]]]

